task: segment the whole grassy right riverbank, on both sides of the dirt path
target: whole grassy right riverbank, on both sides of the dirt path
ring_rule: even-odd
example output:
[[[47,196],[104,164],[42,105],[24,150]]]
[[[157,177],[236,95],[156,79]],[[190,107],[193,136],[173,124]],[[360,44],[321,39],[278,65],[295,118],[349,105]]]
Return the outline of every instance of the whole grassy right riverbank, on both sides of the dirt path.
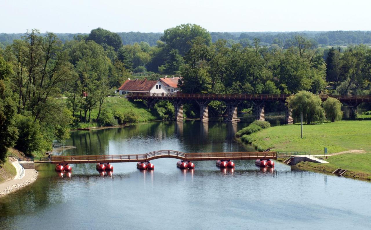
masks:
[[[347,169],[346,177],[371,180],[371,121],[338,121],[303,126],[275,126],[249,135],[248,140],[262,148],[273,147],[274,151],[311,151],[323,154],[328,148],[326,161],[329,164],[301,162],[299,168],[333,172],[336,168]]]

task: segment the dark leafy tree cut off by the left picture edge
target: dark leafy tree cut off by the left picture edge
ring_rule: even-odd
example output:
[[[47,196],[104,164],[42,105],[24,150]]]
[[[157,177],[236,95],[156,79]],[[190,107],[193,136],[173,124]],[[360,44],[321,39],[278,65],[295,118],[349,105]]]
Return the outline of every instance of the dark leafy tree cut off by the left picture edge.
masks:
[[[9,89],[9,76],[12,74],[11,65],[0,56],[0,164],[3,163],[8,148],[12,147],[18,138],[14,124],[16,105]]]

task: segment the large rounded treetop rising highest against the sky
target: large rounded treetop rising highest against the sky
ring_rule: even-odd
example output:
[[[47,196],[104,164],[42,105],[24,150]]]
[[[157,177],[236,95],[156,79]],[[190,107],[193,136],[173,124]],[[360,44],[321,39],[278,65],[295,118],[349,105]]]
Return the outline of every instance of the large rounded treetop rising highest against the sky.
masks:
[[[168,50],[177,49],[180,55],[185,53],[191,48],[191,41],[196,37],[201,37],[207,46],[211,44],[210,33],[201,26],[196,24],[181,24],[164,31],[161,40],[166,43]]]

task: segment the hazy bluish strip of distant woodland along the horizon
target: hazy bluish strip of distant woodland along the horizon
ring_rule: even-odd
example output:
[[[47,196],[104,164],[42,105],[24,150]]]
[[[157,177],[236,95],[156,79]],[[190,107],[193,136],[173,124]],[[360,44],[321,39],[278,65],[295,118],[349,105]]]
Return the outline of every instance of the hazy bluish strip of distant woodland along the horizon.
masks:
[[[134,43],[147,42],[150,46],[155,46],[164,33],[141,33],[141,32],[119,32],[122,44],[133,45]],[[0,47],[12,44],[14,39],[20,39],[23,33],[0,33]],[[45,35],[45,34],[42,34]],[[84,33],[56,33],[59,39],[64,43],[73,40]],[[270,46],[276,44],[284,47],[295,36],[303,36],[315,40],[322,46],[348,46],[359,44],[371,44],[371,31],[302,31],[302,32],[210,32],[212,42],[219,39],[227,40],[227,45],[235,43],[252,43],[258,38],[262,45]]]

